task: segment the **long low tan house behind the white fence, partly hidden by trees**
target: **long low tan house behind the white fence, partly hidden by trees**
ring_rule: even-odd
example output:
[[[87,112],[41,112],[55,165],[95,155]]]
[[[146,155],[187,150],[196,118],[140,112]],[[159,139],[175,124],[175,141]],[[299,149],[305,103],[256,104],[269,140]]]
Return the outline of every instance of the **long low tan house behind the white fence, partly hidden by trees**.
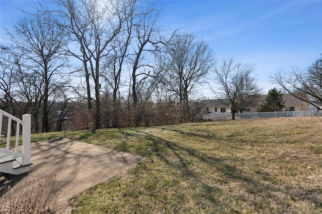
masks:
[[[304,96],[300,95],[299,96]],[[259,95],[257,103],[254,106],[248,106],[243,112],[257,112],[258,108],[262,105],[267,95]],[[292,94],[283,94],[283,100],[285,100],[285,108],[283,111],[308,111],[309,103],[302,101]],[[204,106],[203,113],[230,113],[229,106],[225,106],[219,99],[203,100]]]

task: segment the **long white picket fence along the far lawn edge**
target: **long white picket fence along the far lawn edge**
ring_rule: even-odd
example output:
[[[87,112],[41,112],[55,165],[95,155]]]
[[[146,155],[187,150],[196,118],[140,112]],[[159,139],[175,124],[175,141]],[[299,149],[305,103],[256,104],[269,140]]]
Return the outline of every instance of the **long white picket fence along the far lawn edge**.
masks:
[[[274,117],[322,117],[322,111],[281,111],[236,113],[235,119],[261,119]],[[203,114],[203,120],[229,120],[231,113]]]

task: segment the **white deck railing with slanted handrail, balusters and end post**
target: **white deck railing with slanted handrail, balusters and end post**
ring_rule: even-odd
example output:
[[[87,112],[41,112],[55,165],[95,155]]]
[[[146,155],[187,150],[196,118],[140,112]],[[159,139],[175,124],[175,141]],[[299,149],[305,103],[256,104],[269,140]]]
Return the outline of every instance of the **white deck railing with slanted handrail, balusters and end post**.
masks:
[[[6,149],[0,148],[0,151],[14,157],[21,157],[21,165],[31,164],[31,115],[24,114],[22,120],[0,109],[0,132],[2,131],[4,117],[8,118],[7,144]],[[11,127],[12,121],[16,122],[16,140],[14,148],[11,148]],[[19,151],[20,125],[22,126],[22,151]]]

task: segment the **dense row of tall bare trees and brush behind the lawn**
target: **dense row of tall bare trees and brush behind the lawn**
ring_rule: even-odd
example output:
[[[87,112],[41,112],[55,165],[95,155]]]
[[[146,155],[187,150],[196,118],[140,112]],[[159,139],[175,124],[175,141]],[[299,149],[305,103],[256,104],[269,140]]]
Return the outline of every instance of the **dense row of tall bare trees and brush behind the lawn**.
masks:
[[[233,113],[261,93],[254,65],[219,64],[193,33],[165,33],[162,2],[50,4],[35,3],[0,46],[0,107],[30,113],[35,132],[59,129],[66,115],[81,129],[194,121],[202,109],[195,90],[209,79]]]

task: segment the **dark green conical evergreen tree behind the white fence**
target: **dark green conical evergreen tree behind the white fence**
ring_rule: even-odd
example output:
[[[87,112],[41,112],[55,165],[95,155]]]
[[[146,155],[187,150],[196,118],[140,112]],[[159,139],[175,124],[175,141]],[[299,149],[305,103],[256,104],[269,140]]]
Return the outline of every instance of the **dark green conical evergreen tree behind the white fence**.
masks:
[[[258,112],[282,111],[284,107],[285,100],[283,100],[283,93],[273,88],[268,91],[268,95],[265,97],[265,101],[258,109]]]

